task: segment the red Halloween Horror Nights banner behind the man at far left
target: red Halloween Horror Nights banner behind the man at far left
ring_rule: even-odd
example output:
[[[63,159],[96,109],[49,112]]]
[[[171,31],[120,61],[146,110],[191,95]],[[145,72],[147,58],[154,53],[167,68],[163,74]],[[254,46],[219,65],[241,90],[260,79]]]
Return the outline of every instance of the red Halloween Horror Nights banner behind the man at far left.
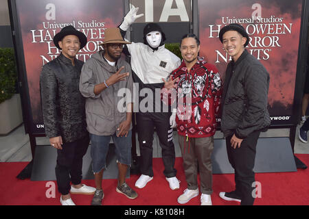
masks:
[[[27,92],[30,101],[25,109],[30,133],[44,133],[43,114],[39,80],[41,68],[60,54],[53,38],[66,25],[73,25],[82,31],[88,39],[77,58],[86,61],[91,54],[103,49],[98,45],[104,41],[106,27],[116,27],[124,17],[124,1],[101,0],[16,0],[16,15],[19,28],[16,34],[21,36],[22,46],[18,49],[23,54]],[[15,27],[16,28],[16,27]],[[27,89],[25,89],[27,86]]]

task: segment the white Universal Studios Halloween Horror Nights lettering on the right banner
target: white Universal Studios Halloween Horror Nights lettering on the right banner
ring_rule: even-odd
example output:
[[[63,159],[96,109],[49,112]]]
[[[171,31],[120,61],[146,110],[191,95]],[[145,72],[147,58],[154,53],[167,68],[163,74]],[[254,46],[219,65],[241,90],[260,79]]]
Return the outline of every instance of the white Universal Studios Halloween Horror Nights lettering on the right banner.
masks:
[[[218,38],[222,27],[230,23],[238,23],[249,35],[247,46],[249,53],[258,60],[268,60],[273,49],[282,47],[280,36],[293,34],[293,23],[288,23],[284,17],[275,15],[263,17],[262,5],[259,3],[253,4],[251,8],[253,9],[251,17],[222,16],[218,23],[208,25],[208,38]],[[216,49],[214,52],[216,53],[215,63],[231,61],[231,57],[228,57],[225,51]]]

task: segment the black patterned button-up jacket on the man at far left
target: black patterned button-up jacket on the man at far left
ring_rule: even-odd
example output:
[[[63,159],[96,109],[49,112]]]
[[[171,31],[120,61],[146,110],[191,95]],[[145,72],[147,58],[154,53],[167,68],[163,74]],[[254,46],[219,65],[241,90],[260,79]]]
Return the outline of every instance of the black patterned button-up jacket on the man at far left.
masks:
[[[62,55],[45,64],[40,76],[41,103],[46,136],[63,142],[84,138],[87,132],[85,100],[79,91],[84,62]]]

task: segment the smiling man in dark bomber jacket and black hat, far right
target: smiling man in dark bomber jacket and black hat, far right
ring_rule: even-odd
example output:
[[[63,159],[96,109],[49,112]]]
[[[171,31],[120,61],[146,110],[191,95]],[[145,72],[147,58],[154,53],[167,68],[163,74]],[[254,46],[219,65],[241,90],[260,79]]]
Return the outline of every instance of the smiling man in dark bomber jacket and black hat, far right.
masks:
[[[249,43],[244,27],[236,23],[227,25],[220,30],[219,38],[232,57],[225,73],[221,131],[236,182],[236,190],[220,192],[220,197],[253,205],[256,145],[260,132],[271,124],[267,110],[270,78],[264,66],[244,49]]]

